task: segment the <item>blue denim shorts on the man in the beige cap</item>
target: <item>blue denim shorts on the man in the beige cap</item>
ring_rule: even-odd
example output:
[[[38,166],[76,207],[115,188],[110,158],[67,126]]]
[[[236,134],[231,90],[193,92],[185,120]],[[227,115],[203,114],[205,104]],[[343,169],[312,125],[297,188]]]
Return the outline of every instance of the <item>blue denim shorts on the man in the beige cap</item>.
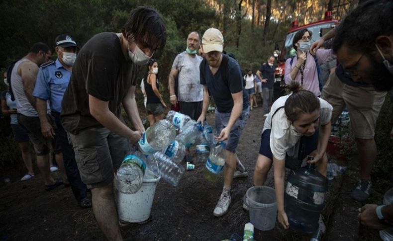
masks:
[[[236,153],[237,145],[239,144],[240,136],[243,132],[244,126],[246,125],[248,116],[250,115],[250,111],[247,108],[243,110],[235,124],[232,126],[231,132],[229,133],[229,137],[225,143],[225,149],[229,152]],[[231,116],[231,112],[228,113],[220,113],[215,110],[215,128],[218,134],[224,129],[229,122],[229,118]]]

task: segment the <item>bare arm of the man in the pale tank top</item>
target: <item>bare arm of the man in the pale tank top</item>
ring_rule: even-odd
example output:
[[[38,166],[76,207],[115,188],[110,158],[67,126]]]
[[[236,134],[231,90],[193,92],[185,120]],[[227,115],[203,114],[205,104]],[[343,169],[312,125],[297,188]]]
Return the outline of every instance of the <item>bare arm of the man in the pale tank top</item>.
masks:
[[[33,96],[35,81],[37,80],[38,66],[33,62],[26,61],[19,66],[18,74],[23,83],[23,90],[29,103],[36,109],[36,100]]]

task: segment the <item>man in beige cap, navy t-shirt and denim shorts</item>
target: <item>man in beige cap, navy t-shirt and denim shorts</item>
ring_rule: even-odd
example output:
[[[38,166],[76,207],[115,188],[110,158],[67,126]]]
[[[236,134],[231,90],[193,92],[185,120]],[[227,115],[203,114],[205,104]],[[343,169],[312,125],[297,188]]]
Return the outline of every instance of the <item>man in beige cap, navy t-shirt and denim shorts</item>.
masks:
[[[205,120],[209,105],[209,92],[216,104],[215,128],[217,141],[226,141],[224,188],[214,209],[214,216],[226,213],[231,203],[230,189],[236,163],[236,147],[249,116],[248,96],[243,88],[243,77],[237,61],[222,54],[224,38],[215,28],[209,28],[202,37],[202,50],[206,58],[200,64],[200,83],[203,84],[203,107],[198,121]]]

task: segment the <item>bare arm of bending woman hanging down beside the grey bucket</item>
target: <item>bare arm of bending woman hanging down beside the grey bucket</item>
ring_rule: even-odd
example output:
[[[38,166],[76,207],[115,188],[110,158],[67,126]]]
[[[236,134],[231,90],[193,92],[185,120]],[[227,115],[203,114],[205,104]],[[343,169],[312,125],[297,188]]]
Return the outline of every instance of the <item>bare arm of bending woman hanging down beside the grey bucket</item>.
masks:
[[[289,228],[288,217],[284,209],[284,178],[285,178],[285,160],[279,160],[273,156],[274,165],[274,187],[276,191],[278,220],[284,229]]]

